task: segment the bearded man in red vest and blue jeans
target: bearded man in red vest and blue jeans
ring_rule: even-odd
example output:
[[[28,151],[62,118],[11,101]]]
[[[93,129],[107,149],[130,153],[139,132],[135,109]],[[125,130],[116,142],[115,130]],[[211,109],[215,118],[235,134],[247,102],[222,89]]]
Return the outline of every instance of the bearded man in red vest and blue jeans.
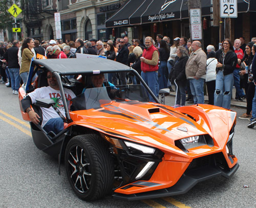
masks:
[[[157,48],[153,45],[153,38],[145,38],[145,48],[143,50],[141,60],[141,77],[152,90],[152,92],[158,97],[159,85],[158,85],[158,60],[159,53]],[[155,102],[154,98],[148,94],[151,102]]]

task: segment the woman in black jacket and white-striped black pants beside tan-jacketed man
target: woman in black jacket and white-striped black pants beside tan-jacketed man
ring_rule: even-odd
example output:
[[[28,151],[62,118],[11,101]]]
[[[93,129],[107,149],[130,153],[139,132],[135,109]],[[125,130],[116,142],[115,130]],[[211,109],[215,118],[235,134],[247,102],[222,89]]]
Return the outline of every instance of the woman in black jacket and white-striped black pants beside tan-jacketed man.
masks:
[[[172,84],[175,84],[176,101],[174,108],[185,106],[186,101],[186,63],[188,60],[187,49],[183,46],[178,46],[177,57],[174,61],[174,66],[169,74],[169,79]]]

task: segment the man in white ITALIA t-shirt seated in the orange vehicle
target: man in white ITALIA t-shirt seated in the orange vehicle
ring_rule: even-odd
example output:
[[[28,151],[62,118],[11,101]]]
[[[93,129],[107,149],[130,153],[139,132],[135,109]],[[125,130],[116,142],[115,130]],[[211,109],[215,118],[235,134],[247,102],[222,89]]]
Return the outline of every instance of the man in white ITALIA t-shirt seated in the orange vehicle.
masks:
[[[38,124],[40,122],[39,115],[30,108],[30,105],[36,102],[36,99],[53,99],[56,103],[55,106],[58,108],[62,115],[65,115],[65,109],[63,107],[62,100],[59,99],[61,98],[61,95],[58,82],[56,77],[50,71],[47,72],[47,82],[49,85],[48,87],[37,88],[22,100],[23,109],[26,113],[28,113],[29,118],[34,124]],[[75,94],[72,90],[64,89],[64,92],[67,100],[71,100],[75,97]],[[63,130],[63,120],[52,107],[49,109],[40,107],[40,109],[42,111],[41,126],[44,127],[46,132],[53,131],[55,134],[58,134]]]

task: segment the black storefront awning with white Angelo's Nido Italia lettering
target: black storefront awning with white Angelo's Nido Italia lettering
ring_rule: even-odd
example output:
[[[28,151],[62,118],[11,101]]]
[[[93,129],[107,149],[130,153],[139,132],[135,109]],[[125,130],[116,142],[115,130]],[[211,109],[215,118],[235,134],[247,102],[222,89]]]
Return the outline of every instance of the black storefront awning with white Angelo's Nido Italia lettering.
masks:
[[[202,16],[211,14],[211,0],[201,0]],[[256,11],[256,0],[238,0],[238,12]],[[130,0],[106,20],[106,28],[188,18],[187,0]]]

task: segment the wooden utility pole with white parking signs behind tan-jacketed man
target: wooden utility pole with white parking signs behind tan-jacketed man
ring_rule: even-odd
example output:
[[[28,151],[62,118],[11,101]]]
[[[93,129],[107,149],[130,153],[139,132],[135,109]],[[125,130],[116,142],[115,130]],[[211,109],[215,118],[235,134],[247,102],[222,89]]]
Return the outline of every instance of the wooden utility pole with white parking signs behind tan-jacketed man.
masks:
[[[199,9],[195,11],[200,12],[200,23],[191,22],[191,16],[190,16],[190,10],[191,9]],[[204,41],[203,41],[203,27],[202,27],[202,12],[201,12],[201,0],[188,0],[188,16],[189,16],[189,30],[190,30],[190,36],[192,40],[199,40],[202,43],[202,48],[204,48]],[[197,29],[199,32],[201,32],[201,39],[195,38],[193,39],[193,34],[195,33],[195,29]],[[199,33],[198,33],[199,34]]]

